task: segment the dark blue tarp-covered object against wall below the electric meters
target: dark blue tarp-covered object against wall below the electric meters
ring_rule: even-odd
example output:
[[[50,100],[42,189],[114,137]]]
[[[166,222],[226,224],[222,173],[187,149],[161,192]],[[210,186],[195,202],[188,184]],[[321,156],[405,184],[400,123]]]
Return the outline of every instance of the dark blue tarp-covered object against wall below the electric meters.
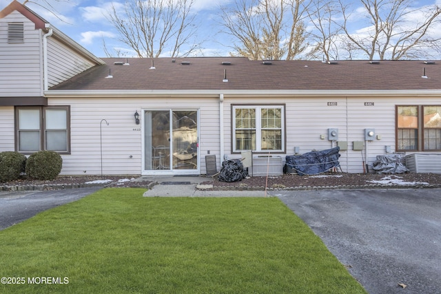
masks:
[[[340,167],[340,147],[322,151],[311,151],[302,155],[288,155],[285,170],[297,171],[300,176],[322,174],[334,167]]]

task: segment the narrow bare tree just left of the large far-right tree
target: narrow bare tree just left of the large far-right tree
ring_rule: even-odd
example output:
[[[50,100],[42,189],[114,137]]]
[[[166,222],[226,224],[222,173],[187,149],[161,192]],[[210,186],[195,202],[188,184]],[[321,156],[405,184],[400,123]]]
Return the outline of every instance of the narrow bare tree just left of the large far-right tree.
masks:
[[[340,15],[341,10],[334,1],[315,0],[311,4],[308,17],[314,29],[309,32],[309,38],[314,46],[307,54],[309,58],[323,58],[325,61],[338,59],[342,32],[338,23]]]

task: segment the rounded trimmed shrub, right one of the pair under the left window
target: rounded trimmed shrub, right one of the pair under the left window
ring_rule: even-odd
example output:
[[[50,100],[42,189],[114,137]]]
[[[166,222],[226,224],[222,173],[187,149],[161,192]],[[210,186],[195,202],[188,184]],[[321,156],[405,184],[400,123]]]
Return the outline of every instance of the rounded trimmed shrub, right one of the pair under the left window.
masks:
[[[38,151],[26,160],[26,176],[34,180],[54,180],[61,172],[63,158],[55,151]]]

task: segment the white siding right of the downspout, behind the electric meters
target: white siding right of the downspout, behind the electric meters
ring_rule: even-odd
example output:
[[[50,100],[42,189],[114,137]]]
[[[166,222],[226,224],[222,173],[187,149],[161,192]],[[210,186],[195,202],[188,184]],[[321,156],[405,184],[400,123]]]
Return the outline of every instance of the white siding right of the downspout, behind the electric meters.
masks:
[[[245,97],[225,96],[225,130],[231,129],[232,116],[229,113],[229,105],[248,100]],[[413,105],[415,100],[416,97],[271,96],[274,103],[286,103],[286,155],[293,155],[294,147],[300,148],[300,154],[336,147],[337,144],[327,138],[327,129],[336,128],[339,131],[338,141],[348,144],[347,151],[340,151],[339,162],[342,171],[349,173],[364,172],[363,162],[371,167],[377,155],[386,154],[386,147],[390,147],[392,152],[396,151],[396,105]],[[252,101],[256,104],[268,103],[268,98],[254,97]],[[433,101],[439,101],[439,98],[419,97],[418,101],[419,104],[433,105]],[[376,138],[365,142],[364,129],[375,129]],[[240,158],[240,155],[232,152],[231,138],[231,134],[225,132],[225,154],[231,158]],[[362,141],[365,148],[362,151],[353,150],[354,141]]]

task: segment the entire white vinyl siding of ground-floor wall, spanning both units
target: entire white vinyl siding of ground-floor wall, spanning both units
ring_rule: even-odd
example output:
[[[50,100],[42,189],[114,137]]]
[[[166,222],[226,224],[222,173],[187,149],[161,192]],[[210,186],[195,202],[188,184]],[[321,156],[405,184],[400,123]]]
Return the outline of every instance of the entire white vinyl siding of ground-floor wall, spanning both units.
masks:
[[[363,162],[371,167],[377,155],[386,154],[385,147],[396,151],[396,105],[414,105],[416,97],[299,97],[271,96],[274,104],[285,105],[286,153],[293,155],[294,147],[300,154],[312,150],[336,147],[329,141],[327,129],[338,129],[338,141],[348,143],[347,151],[340,151],[342,171],[362,173]],[[267,97],[224,96],[223,102],[223,154],[227,158],[240,158],[232,152],[231,105],[249,103],[268,103]],[[418,97],[419,105],[435,105],[440,97]],[[328,102],[333,106],[328,106]],[[335,105],[336,102],[336,105]],[[373,103],[371,106],[365,102]],[[368,104],[369,104],[368,103]],[[200,162],[201,174],[205,173],[205,156],[216,155],[218,170],[220,158],[219,97],[171,97],[144,96],[137,98],[49,98],[50,105],[71,105],[71,154],[63,154],[62,175],[90,175],[101,173],[100,126],[103,148],[103,174],[136,175],[142,169],[142,131],[134,123],[134,112],[142,109],[199,109],[200,119]],[[251,103],[249,103],[251,104]],[[0,107],[0,151],[13,149],[14,129],[11,107]],[[3,119],[6,114],[8,119]],[[106,119],[109,125],[101,123]],[[143,122],[141,122],[142,125]],[[3,127],[5,126],[5,127]],[[364,141],[364,129],[375,129],[376,137]],[[323,139],[322,137],[323,136]],[[363,151],[353,150],[354,141],[363,141]],[[11,148],[12,147],[12,148]],[[367,148],[366,148],[367,147]],[[366,154],[367,151],[367,154]],[[403,152],[402,156],[416,152]],[[424,152],[429,154],[430,152]],[[433,152],[437,153],[437,152]],[[439,152],[438,152],[439,153]],[[132,156],[132,158],[130,158]]]

